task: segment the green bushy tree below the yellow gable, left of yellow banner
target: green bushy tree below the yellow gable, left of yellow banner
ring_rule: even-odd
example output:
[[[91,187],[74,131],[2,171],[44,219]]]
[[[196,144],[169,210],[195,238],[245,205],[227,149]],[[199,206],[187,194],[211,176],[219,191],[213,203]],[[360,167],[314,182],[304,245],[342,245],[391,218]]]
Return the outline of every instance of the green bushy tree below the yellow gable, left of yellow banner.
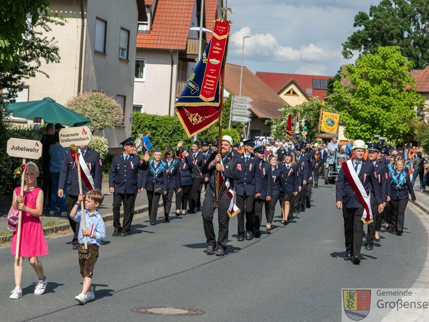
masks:
[[[312,98],[296,106],[286,104],[283,108],[279,109],[281,114],[280,117],[266,121],[265,124],[271,123],[272,136],[279,139],[285,139],[287,117],[289,114],[292,115],[292,128],[294,128],[295,113],[299,112],[301,121],[305,119],[305,126],[307,126],[306,131],[308,134],[306,137],[314,138],[319,126],[320,109],[323,106],[324,103],[318,98]]]

